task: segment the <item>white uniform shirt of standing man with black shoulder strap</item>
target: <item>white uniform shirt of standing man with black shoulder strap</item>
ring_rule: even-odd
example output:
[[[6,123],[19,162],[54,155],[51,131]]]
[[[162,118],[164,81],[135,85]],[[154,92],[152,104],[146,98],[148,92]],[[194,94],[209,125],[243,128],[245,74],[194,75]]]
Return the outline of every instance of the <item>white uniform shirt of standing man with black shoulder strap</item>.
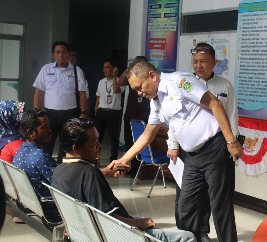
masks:
[[[77,67],[78,91],[86,91],[82,70]],[[42,67],[33,87],[45,92],[45,108],[54,110],[68,110],[77,107],[75,93],[75,77],[73,65],[61,69],[56,67],[56,62]]]

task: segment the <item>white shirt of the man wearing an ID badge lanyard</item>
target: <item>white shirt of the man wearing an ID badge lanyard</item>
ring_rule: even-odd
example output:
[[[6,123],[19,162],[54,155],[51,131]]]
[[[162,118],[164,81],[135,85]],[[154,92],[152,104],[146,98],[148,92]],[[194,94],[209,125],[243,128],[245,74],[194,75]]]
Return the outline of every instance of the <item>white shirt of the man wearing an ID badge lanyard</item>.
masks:
[[[117,82],[119,78],[117,77]],[[121,93],[124,91],[125,87],[120,87]],[[99,96],[99,106],[98,108],[110,108],[114,110],[121,109],[121,93],[114,93],[113,82],[108,81],[107,77],[101,79],[98,83],[96,96]],[[111,103],[107,103],[107,96],[111,95]]]

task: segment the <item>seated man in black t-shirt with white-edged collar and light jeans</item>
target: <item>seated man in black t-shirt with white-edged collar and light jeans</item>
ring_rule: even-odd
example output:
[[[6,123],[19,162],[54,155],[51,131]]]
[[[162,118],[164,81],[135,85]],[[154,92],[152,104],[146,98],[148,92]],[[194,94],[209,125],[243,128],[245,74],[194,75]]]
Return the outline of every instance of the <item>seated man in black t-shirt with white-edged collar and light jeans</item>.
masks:
[[[68,120],[61,133],[66,158],[53,173],[52,186],[131,226],[138,227],[163,241],[195,241],[191,232],[156,229],[151,218],[133,219],[114,196],[103,173],[95,167],[99,155],[98,132],[86,118]],[[82,188],[82,189],[81,189]]]

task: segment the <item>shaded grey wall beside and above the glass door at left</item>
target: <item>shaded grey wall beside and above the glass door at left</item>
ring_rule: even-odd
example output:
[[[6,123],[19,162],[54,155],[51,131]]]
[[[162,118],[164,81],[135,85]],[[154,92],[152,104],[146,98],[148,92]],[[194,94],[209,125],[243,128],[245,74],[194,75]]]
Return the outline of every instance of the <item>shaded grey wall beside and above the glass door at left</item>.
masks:
[[[22,99],[33,108],[35,89],[32,84],[41,67],[52,59],[52,43],[68,42],[69,0],[9,0],[2,1],[0,22],[25,24]],[[32,68],[32,61],[38,68]]]

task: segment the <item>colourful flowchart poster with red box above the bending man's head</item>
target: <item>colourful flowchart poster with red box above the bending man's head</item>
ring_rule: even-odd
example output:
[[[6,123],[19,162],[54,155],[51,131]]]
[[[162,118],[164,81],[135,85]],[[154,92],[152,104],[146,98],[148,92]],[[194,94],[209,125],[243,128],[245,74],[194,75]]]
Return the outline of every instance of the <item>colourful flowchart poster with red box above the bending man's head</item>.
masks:
[[[180,0],[148,0],[146,57],[165,73],[176,71]]]

